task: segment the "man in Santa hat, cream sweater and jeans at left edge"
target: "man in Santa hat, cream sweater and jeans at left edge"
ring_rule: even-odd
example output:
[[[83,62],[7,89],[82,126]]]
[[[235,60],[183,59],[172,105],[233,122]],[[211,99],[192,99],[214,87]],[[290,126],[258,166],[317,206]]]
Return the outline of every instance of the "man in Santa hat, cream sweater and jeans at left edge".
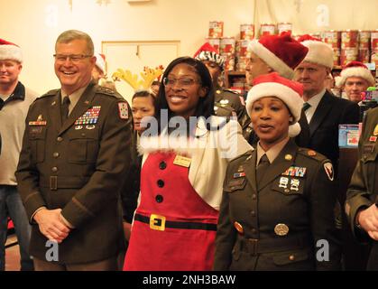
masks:
[[[31,227],[26,217],[14,172],[25,130],[25,118],[37,93],[27,89],[18,77],[23,69],[21,48],[0,39],[0,270],[5,270],[7,218],[10,216],[20,245],[21,270],[32,270],[29,256]]]

